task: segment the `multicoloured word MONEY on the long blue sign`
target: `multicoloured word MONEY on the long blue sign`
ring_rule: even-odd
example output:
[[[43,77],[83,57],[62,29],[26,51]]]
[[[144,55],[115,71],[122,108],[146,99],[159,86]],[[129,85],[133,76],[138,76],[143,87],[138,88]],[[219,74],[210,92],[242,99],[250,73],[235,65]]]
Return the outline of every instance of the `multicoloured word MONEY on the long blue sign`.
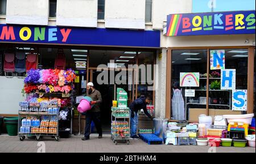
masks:
[[[69,28],[48,28],[46,27],[20,27],[15,28],[12,25],[5,25],[0,28],[0,41],[1,40],[21,40],[21,41],[45,41],[48,42],[58,41],[67,42],[68,37],[72,31]],[[18,30],[17,30],[18,29]]]

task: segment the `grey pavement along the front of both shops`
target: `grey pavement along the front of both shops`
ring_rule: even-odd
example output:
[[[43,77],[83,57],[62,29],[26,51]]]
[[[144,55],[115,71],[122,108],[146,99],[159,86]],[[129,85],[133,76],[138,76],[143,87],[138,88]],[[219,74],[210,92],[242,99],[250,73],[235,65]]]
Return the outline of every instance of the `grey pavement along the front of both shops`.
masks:
[[[251,147],[148,145],[142,140],[130,140],[130,145],[120,141],[115,145],[110,135],[103,135],[102,139],[97,136],[91,134],[90,140],[86,141],[81,140],[82,136],[74,135],[59,141],[51,137],[44,137],[40,141],[27,138],[20,141],[18,136],[0,135],[0,153],[255,153],[255,148]]]

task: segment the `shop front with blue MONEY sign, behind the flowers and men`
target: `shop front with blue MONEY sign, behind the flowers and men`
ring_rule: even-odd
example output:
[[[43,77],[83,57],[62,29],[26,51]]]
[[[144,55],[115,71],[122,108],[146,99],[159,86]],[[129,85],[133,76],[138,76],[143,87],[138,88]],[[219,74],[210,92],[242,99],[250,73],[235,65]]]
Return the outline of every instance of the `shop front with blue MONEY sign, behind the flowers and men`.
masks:
[[[69,92],[73,101],[71,133],[79,132],[76,97],[86,93],[86,83],[89,81],[93,82],[95,88],[101,92],[102,128],[109,132],[110,109],[116,88],[126,90],[128,103],[141,95],[151,96],[154,103],[155,91],[152,89],[154,83],[146,83],[139,74],[139,69],[129,68],[129,65],[153,66],[159,48],[159,31],[1,24],[0,114],[18,115],[19,102],[27,98],[26,92],[22,89],[28,71],[27,66],[23,71],[17,71],[18,54],[24,54],[26,61],[28,55],[33,54],[36,69],[72,69],[76,73],[76,79],[73,81],[75,88]],[[8,54],[15,56],[9,66],[5,63]],[[120,72],[123,75],[119,80],[121,83],[115,80],[118,79]],[[106,76],[99,82],[98,77],[101,75]],[[154,80],[154,71],[151,72],[150,77]],[[61,98],[65,96],[67,95],[64,97],[62,95]],[[84,131],[84,118],[81,116],[81,132]]]

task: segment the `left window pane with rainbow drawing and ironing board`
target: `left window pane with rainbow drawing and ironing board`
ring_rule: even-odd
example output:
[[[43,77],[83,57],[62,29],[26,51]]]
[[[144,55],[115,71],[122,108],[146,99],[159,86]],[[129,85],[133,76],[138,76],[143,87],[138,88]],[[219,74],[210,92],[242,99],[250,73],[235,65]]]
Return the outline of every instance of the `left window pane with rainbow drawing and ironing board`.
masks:
[[[188,119],[192,109],[206,111],[207,50],[172,50],[171,62],[172,119]],[[192,95],[185,97],[187,89]]]

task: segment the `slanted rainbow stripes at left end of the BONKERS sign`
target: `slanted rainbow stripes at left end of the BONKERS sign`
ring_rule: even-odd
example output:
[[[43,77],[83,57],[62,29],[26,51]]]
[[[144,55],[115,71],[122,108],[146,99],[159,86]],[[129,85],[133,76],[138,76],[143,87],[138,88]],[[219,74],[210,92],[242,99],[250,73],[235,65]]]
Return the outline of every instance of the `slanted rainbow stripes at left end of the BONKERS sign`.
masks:
[[[171,15],[171,21],[168,25],[167,36],[177,36],[177,31],[180,26],[182,14]]]

